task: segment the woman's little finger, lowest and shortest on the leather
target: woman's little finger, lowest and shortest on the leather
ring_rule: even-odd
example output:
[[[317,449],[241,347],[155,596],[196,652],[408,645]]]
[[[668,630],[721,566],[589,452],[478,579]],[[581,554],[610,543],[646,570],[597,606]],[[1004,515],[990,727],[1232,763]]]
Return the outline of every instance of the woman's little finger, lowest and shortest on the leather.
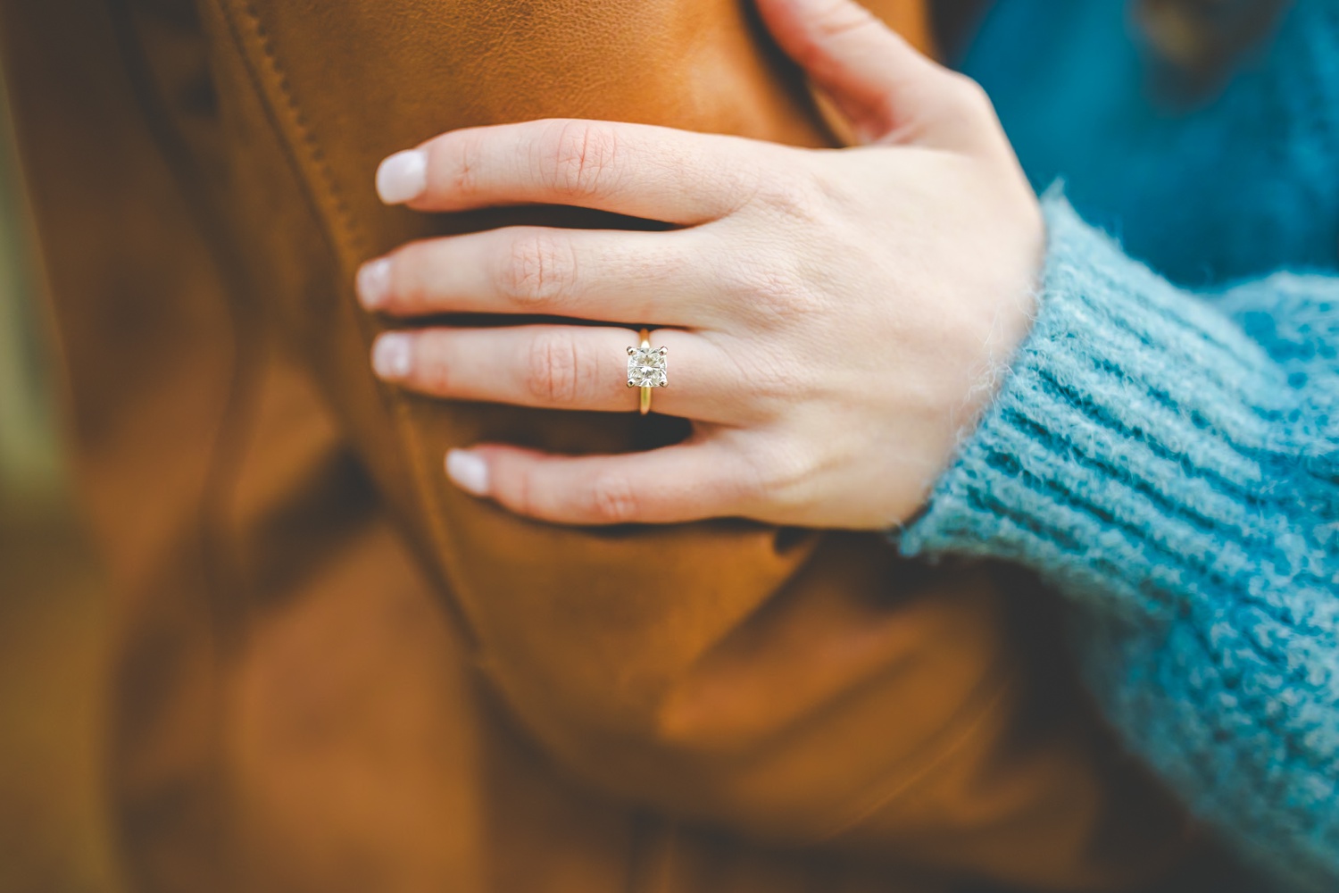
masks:
[[[742,514],[751,473],[719,440],[648,453],[556,457],[510,446],[453,450],[447,474],[462,489],[554,523],[676,523]]]

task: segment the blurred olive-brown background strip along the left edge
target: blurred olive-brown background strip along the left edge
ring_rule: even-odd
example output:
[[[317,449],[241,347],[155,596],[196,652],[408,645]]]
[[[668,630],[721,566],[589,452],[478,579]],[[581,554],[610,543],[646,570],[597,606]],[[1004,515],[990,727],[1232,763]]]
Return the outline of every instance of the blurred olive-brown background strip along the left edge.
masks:
[[[116,893],[99,781],[111,613],[71,497],[58,370],[0,107],[0,893]]]

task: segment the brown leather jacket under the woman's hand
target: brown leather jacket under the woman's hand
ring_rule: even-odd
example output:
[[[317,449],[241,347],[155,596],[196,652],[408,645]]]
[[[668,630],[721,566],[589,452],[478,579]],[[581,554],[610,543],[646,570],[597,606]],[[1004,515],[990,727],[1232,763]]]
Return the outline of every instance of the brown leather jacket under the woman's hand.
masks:
[[[917,4],[881,5],[924,42]],[[747,4],[33,0],[4,42],[121,593],[137,888],[1223,889],[1027,580],[878,537],[522,521],[447,486],[446,449],[678,422],[370,375],[359,262],[599,222],[386,209],[390,151],[546,115],[829,145]]]

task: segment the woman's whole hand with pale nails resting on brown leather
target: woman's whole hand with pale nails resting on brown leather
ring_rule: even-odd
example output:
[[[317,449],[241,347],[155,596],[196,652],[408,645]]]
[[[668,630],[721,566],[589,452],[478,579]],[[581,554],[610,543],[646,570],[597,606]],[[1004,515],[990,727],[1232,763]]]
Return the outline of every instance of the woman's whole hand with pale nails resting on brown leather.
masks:
[[[1027,332],[1043,225],[981,90],[849,0],[758,0],[866,146],[803,150],[586,120],[461,130],[392,155],[388,202],[576,205],[680,229],[509,228],[406,245],[359,273],[392,316],[617,327],[383,335],[387,380],[442,398],[633,412],[627,348],[660,327],[655,410],[684,443],[613,457],[454,450],[451,478],[566,523],[908,518]]]

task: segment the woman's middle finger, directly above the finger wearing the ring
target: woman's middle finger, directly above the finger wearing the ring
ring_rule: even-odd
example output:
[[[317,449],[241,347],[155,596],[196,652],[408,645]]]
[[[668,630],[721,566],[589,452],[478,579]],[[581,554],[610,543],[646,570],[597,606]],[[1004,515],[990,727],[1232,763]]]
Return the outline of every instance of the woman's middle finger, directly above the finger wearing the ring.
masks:
[[[528,313],[700,327],[707,296],[694,233],[514,226],[412,242],[358,276],[367,309],[396,316]]]

